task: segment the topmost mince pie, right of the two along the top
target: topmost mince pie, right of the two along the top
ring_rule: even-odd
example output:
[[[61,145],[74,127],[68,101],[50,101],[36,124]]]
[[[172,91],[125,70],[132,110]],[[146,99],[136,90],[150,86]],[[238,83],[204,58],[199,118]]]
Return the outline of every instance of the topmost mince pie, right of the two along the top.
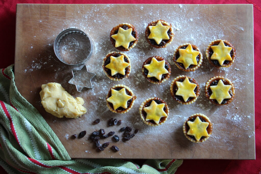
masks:
[[[163,20],[149,23],[145,30],[147,42],[155,48],[165,48],[174,37],[171,24]]]

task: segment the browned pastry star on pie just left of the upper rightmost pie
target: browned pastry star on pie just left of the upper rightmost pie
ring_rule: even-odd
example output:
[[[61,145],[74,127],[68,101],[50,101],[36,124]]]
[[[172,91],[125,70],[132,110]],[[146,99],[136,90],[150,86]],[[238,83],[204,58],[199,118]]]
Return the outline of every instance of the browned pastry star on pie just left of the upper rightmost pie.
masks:
[[[182,63],[187,69],[190,65],[197,65],[197,56],[199,55],[199,51],[193,50],[191,44],[187,46],[186,49],[179,49],[180,57],[177,59],[176,62]]]

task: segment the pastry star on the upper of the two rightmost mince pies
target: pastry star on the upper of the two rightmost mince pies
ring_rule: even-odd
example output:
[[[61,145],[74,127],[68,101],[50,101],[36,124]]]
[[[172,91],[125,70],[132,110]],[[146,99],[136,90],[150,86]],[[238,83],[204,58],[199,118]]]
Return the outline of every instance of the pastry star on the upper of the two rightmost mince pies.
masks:
[[[217,60],[220,65],[223,65],[224,61],[232,61],[230,51],[232,47],[226,46],[223,40],[218,45],[211,46],[213,54],[210,59]]]

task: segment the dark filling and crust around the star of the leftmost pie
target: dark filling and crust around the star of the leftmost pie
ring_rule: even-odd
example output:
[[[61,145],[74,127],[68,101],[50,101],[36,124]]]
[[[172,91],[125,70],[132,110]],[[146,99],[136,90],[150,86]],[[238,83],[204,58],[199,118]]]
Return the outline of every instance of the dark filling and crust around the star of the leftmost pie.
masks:
[[[127,74],[129,74],[130,67],[125,68],[125,75],[117,73],[114,76],[111,76],[111,70],[105,67],[106,65],[108,65],[111,62],[110,56],[119,57],[119,56],[121,56],[121,54],[114,52],[114,53],[111,53],[107,56],[107,58],[105,59],[104,65],[103,65],[105,72],[112,78],[123,79]],[[124,57],[124,61],[127,62],[127,63],[130,63],[129,60],[127,59],[127,57]]]

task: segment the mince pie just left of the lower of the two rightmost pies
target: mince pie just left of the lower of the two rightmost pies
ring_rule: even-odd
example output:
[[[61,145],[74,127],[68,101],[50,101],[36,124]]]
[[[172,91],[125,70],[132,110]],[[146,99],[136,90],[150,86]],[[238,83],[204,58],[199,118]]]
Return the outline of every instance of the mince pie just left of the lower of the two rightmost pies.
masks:
[[[199,96],[199,91],[198,82],[186,75],[176,77],[170,85],[173,99],[184,105],[194,103]]]

